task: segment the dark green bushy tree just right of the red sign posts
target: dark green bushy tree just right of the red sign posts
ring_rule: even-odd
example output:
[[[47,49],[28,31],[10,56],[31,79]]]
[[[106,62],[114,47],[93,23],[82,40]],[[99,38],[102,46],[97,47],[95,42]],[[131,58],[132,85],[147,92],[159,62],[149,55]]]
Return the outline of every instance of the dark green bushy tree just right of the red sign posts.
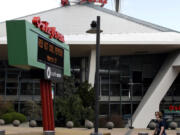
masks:
[[[56,98],[56,114],[80,126],[85,119],[94,120],[94,90],[88,82],[64,77],[64,94]]]

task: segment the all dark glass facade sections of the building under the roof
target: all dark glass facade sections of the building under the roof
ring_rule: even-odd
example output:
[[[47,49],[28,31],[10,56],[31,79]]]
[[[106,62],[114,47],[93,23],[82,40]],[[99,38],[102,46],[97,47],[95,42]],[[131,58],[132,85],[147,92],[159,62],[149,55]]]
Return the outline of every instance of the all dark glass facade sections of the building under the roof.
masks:
[[[119,114],[127,121],[131,117],[131,103],[134,113],[166,56],[167,54],[101,56],[100,115]],[[88,80],[89,61],[88,57],[71,58],[71,72],[77,79]],[[17,111],[21,111],[26,100],[34,100],[40,104],[40,80],[32,79],[28,71],[7,65],[7,61],[0,62],[0,95],[15,101]],[[56,96],[63,94],[63,82],[53,87]],[[160,104],[160,109],[164,110],[167,117],[171,116],[171,119],[176,120],[180,118],[180,113],[169,113],[167,110],[171,105],[180,105],[179,89],[180,76]]]

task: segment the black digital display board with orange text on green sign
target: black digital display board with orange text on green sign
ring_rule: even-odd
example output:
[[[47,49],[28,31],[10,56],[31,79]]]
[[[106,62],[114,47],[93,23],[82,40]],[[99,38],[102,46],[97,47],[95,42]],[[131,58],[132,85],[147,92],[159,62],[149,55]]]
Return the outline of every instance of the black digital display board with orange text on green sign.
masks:
[[[63,68],[64,50],[56,44],[38,37],[38,61]]]

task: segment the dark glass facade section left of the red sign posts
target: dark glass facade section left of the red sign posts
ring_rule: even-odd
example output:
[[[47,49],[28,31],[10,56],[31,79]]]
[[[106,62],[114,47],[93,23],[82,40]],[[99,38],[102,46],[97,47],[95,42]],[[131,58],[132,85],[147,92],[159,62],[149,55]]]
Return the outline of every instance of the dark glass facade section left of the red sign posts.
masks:
[[[25,101],[32,100],[40,104],[40,80],[32,79],[27,70],[0,61],[0,96],[12,102],[16,111],[22,112]]]

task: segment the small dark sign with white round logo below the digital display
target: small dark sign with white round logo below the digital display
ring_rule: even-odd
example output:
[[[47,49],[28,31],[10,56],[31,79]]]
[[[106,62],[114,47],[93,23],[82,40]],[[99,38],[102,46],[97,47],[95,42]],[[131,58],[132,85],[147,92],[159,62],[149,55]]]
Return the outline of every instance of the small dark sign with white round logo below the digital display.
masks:
[[[46,69],[44,70],[44,78],[58,82],[62,78],[62,70],[46,65]]]

